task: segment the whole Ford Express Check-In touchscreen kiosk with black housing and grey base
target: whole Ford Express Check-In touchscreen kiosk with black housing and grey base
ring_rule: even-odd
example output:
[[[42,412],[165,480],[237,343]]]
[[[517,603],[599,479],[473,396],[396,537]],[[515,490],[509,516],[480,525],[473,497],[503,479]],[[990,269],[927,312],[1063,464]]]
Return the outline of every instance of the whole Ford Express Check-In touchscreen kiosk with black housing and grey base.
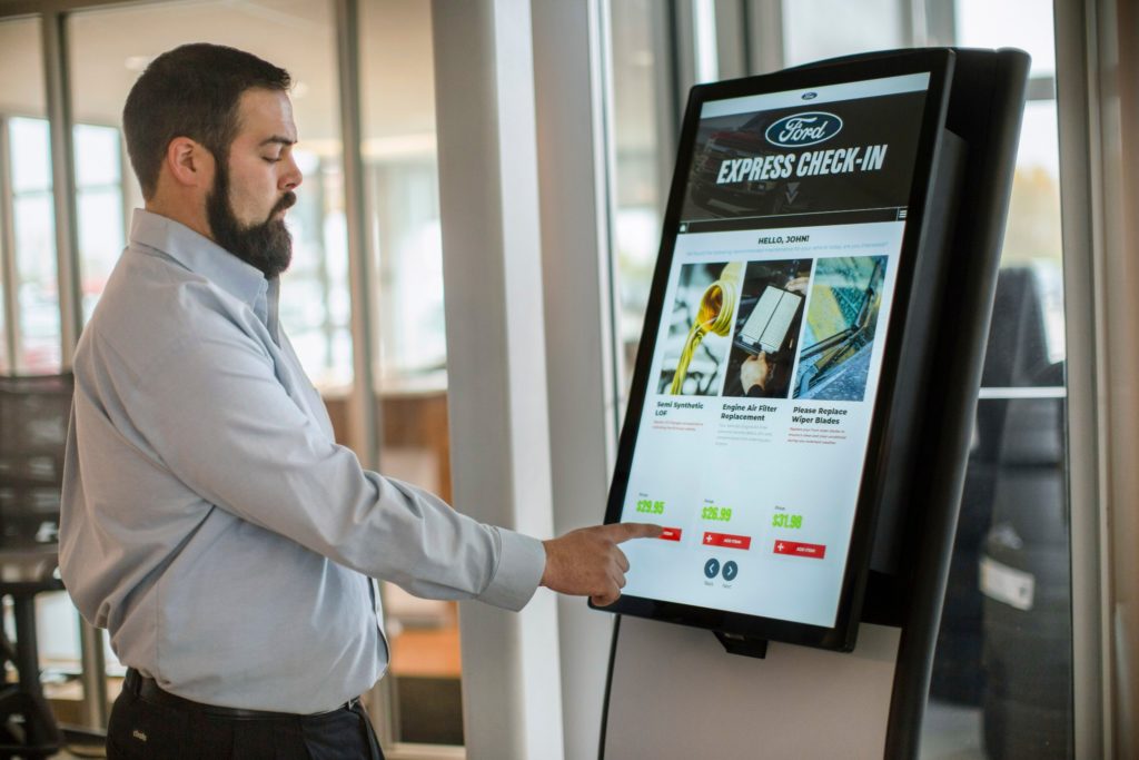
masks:
[[[606,513],[664,533],[606,607],[604,757],[917,755],[1027,71],[693,89]]]

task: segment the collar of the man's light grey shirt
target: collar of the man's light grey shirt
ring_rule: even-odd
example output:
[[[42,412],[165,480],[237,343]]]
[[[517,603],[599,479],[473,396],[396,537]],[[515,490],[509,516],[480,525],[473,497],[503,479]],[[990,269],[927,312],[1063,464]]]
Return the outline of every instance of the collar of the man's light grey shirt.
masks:
[[[260,269],[162,214],[136,209],[131,220],[131,243],[170,256],[251,307],[269,291],[269,283]]]

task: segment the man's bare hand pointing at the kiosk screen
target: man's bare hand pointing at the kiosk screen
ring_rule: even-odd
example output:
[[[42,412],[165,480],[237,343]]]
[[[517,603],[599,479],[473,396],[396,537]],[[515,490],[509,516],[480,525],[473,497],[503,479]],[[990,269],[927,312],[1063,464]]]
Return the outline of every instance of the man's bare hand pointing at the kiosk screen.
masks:
[[[598,606],[613,604],[621,596],[629,570],[629,559],[617,545],[659,536],[659,525],[614,523],[582,528],[542,541],[546,547],[542,586],[560,594],[588,596]]]

